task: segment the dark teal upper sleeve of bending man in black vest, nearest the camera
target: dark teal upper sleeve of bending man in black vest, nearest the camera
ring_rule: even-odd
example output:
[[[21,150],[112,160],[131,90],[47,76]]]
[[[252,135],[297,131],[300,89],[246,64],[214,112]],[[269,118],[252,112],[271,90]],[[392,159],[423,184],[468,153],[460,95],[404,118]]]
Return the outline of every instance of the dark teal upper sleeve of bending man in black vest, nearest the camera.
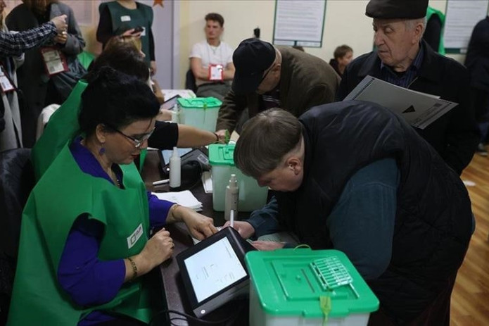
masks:
[[[326,222],[334,249],[366,280],[379,277],[390,263],[399,180],[393,158],[358,170]]]

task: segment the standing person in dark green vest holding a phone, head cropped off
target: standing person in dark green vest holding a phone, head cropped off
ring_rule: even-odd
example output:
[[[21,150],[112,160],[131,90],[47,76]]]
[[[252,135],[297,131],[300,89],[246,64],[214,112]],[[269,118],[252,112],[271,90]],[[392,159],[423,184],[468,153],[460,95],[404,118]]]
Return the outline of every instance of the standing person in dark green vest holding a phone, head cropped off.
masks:
[[[115,35],[141,37],[145,61],[156,73],[155,40],[153,25],[153,8],[134,0],[117,0],[102,2],[99,6],[99,26],[97,41],[105,47],[108,40]]]

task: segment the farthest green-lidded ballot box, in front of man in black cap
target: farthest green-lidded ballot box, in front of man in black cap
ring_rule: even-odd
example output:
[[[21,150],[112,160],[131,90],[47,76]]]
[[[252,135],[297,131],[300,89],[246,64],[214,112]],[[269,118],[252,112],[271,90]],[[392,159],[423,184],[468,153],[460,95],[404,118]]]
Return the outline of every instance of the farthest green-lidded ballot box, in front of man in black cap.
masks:
[[[179,123],[191,125],[210,132],[215,131],[217,115],[222,102],[215,97],[195,97],[177,99]]]

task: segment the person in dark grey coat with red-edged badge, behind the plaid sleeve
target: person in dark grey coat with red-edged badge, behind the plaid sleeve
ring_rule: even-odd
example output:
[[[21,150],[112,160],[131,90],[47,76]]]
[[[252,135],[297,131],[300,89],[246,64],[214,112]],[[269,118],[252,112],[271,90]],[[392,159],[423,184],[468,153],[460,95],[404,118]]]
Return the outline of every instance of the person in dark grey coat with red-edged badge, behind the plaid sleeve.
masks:
[[[9,30],[22,32],[66,15],[68,27],[59,32],[49,44],[25,51],[23,65],[18,68],[18,88],[25,97],[25,109],[20,111],[23,145],[32,148],[36,141],[37,118],[50,104],[62,104],[78,80],[87,72],[77,55],[85,46],[82,31],[67,4],[56,0],[23,0],[6,17]],[[46,58],[58,56],[58,60]],[[48,68],[49,67],[49,68]],[[65,69],[61,73],[59,68]],[[56,73],[58,72],[58,73]]]

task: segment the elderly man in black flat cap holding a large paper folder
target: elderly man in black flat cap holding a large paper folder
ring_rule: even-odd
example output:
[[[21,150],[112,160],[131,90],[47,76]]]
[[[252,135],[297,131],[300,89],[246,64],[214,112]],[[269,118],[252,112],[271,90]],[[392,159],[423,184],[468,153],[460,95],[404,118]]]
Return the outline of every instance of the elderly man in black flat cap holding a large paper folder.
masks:
[[[371,75],[457,102],[458,106],[417,132],[461,174],[470,163],[479,139],[469,100],[469,73],[463,65],[437,54],[421,40],[427,6],[428,0],[369,1],[365,14],[374,18],[376,49],[348,65],[337,99],[344,99],[365,76]]]

